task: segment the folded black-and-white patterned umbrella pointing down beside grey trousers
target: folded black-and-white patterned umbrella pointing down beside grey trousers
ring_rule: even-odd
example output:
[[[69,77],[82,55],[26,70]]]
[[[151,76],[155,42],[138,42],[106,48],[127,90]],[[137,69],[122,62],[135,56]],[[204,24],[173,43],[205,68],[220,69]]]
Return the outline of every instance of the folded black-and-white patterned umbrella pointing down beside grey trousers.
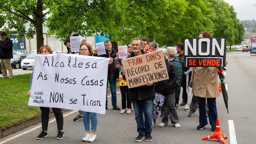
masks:
[[[153,122],[154,122],[154,128],[156,125],[157,115],[163,106],[163,103],[165,101],[165,97],[159,93],[156,93],[156,98],[154,99],[154,111],[153,111]]]

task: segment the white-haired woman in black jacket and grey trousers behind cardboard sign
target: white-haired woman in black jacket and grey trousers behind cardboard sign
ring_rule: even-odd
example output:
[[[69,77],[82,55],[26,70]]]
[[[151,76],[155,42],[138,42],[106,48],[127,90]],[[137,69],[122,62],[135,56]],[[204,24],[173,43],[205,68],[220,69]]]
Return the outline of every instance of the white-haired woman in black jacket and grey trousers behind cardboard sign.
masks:
[[[163,51],[165,64],[168,72],[169,79],[159,81],[155,83],[155,91],[165,97],[165,101],[161,108],[162,122],[158,125],[164,127],[168,125],[168,115],[172,124],[176,128],[180,128],[179,118],[175,106],[175,87],[177,87],[177,73],[174,65],[168,61],[168,52],[166,49],[157,49],[157,51]]]

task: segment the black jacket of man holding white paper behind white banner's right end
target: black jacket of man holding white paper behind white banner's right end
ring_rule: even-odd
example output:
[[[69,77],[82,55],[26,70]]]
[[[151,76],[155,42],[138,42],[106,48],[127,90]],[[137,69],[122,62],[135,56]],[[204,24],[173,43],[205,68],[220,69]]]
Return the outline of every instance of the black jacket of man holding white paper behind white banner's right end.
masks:
[[[105,49],[106,50],[106,49]],[[116,54],[117,52],[115,51],[115,49],[112,48],[112,54],[111,54],[111,58],[115,59],[116,57]],[[98,55],[98,54],[94,54],[93,53],[93,56],[99,56],[99,57],[103,57],[103,58],[109,58],[109,55],[108,55],[108,51],[106,50],[106,54],[102,54],[102,55]],[[113,60],[113,63],[111,64],[111,71],[109,70],[109,67],[108,67],[108,76],[111,76],[111,79],[116,79],[116,78],[119,78],[119,72],[118,72],[118,69],[115,69],[115,62]]]

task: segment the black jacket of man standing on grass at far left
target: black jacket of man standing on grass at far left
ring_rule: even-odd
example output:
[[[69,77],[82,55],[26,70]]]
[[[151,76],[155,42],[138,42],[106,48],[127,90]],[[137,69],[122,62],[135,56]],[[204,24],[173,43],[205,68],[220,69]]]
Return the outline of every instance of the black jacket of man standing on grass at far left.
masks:
[[[0,59],[13,58],[13,42],[8,37],[0,40]]]

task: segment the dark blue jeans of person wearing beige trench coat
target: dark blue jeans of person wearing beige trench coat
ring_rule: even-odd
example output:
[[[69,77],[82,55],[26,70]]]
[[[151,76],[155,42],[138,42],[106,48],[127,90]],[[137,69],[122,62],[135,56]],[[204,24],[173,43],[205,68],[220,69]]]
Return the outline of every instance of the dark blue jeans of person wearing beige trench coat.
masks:
[[[216,119],[218,118],[217,107],[216,107],[216,98],[207,98],[209,103],[209,122],[210,125],[216,125]],[[206,98],[198,97],[199,105],[199,124],[207,125],[207,116],[206,116]]]

